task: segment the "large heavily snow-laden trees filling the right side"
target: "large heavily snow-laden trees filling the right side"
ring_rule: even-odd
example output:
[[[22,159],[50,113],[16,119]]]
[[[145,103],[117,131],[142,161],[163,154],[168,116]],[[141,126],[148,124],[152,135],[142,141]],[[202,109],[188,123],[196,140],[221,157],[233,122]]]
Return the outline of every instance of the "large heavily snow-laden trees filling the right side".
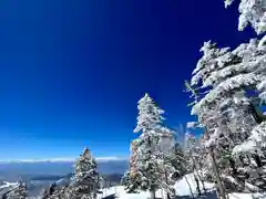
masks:
[[[226,7],[232,3],[225,0]],[[265,0],[241,0],[238,10],[239,30],[250,24],[265,34]],[[195,169],[216,182],[223,199],[232,190],[266,190],[265,41],[265,35],[250,39],[234,50],[205,42],[203,56],[185,82],[193,96],[192,115],[197,116],[190,127],[204,129]]]

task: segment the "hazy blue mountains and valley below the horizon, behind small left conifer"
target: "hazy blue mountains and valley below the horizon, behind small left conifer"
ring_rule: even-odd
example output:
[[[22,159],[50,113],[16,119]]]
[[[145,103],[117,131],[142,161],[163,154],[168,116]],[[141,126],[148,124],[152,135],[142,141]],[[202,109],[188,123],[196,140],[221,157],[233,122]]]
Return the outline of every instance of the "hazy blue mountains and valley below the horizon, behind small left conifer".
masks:
[[[0,161],[0,185],[3,181],[16,182],[22,179],[27,182],[29,195],[38,196],[52,182],[66,185],[73,172],[73,160],[38,160],[38,161]],[[129,167],[126,159],[98,159],[99,171],[110,186],[120,182]],[[1,189],[3,191],[4,189]]]

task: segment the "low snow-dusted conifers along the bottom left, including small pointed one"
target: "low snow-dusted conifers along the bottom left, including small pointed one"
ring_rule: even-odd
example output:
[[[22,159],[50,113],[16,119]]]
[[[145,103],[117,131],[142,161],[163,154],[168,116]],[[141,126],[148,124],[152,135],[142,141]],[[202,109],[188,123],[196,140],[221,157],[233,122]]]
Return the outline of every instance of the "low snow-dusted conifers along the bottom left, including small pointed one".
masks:
[[[47,189],[42,199],[96,199],[96,193],[102,188],[103,179],[98,172],[98,165],[88,148],[80,155],[74,167],[74,176],[64,186],[52,184]],[[27,186],[19,181],[18,186],[4,191],[2,199],[27,199]]]

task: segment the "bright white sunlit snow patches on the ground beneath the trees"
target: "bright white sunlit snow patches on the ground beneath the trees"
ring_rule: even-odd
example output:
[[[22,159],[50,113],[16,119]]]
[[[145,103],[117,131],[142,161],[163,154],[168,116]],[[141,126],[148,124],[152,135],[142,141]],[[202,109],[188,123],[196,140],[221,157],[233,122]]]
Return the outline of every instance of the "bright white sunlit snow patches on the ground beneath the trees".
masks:
[[[175,190],[176,190],[176,199],[193,199],[191,196],[190,186],[191,185],[193,195],[196,199],[216,199],[216,191],[214,188],[214,184],[204,182],[205,188],[207,189],[207,193],[205,193],[202,197],[198,197],[196,195],[196,182],[193,178],[193,175],[186,175],[183,177],[180,181],[175,184]],[[201,185],[202,187],[202,185]],[[103,193],[98,196],[98,199],[101,199],[102,197],[110,196],[115,193],[119,199],[147,199],[150,198],[149,191],[140,191],[140,193],[126,193],[123,186],[116,186],[111,187],[109,189],[103,189]],[[266,199],[265,195],[250,195],[250,193],[229,193],[229,199]],[[162,190],[156,191],[156,198],[165,198],[165,193]]]

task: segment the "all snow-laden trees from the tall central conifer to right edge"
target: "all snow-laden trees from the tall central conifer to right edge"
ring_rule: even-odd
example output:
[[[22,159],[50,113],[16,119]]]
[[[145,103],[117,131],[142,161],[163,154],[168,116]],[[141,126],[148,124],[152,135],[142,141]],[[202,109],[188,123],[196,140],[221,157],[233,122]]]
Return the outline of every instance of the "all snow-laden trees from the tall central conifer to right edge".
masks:
[[[201,48],[192,78],[185,82],[193,96],[187,127],[204,130],[200,139],[191,134],[178,154],[173,132],[163,124],[164,111],[146,94],[139,102],[131,144],[130,169],[122,180],[132,192],[166,190],[174,196],[174,176],[193,171],[197,186],[216,182],[218,197],[228,191],[266,191],[266,0],[239,0],[238,30],[250,24],[262,39],[250,39],[234,50],[208,41]],[[227,8],[233,0],[225,0]],[[260,35],[259,35],[260,36]],[[182,164],[174,164],[182,163]],[[180,167],[176,167],[178,165]],[[183,168],[185,165],[185,168]],[[201,190],[198,190],[201,191]]]

